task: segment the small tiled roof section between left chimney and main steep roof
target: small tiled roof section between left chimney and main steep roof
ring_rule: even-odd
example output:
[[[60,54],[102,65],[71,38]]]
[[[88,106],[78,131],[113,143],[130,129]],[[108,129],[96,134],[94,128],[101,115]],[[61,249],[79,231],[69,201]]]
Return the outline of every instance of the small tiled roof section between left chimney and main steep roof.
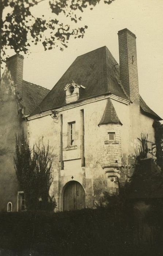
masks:
[[[48,93],[48,89],[23,80],[22,104],[24,106],[24,115],[26,116],[31,114]]]

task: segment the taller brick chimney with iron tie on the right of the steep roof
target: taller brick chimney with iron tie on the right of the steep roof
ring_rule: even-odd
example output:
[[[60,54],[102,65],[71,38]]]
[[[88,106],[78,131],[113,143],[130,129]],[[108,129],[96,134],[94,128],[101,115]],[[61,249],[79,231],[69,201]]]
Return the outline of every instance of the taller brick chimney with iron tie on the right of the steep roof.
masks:
[[[118,31],[120,79],[132,102],[139,103],[136,36],[128,29]]]

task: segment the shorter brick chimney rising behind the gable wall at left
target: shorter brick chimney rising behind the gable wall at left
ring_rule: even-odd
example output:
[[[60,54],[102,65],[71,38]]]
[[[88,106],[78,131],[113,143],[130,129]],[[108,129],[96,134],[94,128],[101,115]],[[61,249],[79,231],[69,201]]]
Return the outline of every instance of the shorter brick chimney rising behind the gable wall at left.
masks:
[[[10,69],[20,99],[22,99],[23,90],[23,59],[24,57],[22,55],[16,53],[6,61],[6,65],[8,69]]]

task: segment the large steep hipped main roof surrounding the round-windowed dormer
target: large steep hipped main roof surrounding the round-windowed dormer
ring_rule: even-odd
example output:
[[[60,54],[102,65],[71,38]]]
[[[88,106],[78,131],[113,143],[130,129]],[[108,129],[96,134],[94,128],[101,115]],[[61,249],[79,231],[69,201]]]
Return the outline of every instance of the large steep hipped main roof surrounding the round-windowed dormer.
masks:
[[[66,105],[64,87],[71,80],[86,87],[81,90],[78,101],[109,93],[129,100],[120,85],[117,61],[106,46],[75,59],[39,105],[42,112]],[[40,108],[32,115],[41,113]]]

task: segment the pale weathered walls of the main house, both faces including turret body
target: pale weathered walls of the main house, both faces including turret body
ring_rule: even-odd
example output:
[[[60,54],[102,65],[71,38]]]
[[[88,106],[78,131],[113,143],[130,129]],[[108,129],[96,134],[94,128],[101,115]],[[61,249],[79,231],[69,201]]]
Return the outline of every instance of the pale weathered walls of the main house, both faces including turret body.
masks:
[[[99,121],[106,108],[107,99],[92,102],[82,106],[72,107],[71,109],[60,109],[57,117],[45,116],[30,120],[28,122],[29,142],[32,146],[38,138],[43,136],[45,143],[54,148],[56,158],[54,160],[54,196],[58,200],[58,210],[62,210],[63,188],[67,182],[75,180],[82,184],[86,194],[86,207],[93,207],[103,191],[108,189],[108,178],[105,170],[102,169],[103,163],[110,158],[112,154],[113,161],[124,165],[124,172],[129,172],[132,154],[138,146],[141,133],[148,133],[149,140],[154,142],[154,131],[152,128],[153,120],[140,113],[140,106],[136,104],[125,105],[124,103],[111,100],[117,115],[123,124],[101,125]],[[82,145],[82,125],[81,110],[84,110],[84,157],[85,166],[82,167],[81,151]],[[60,168],[60,131],[62,115],[62,155],[64,169]],[[68,145],[68,123],[75,121],[75,146]],[[111,130],[110,130],[111,129]],[[107,132],[115,131],[115,138],[118,144],[113,144],[113,150],[108,148],[110,144],[106,143]],[[112,147],[110,147],[112,148]],[[103,149],[103,150],[102,150]],[[116,151],[116,152],[115,152]],[[117,157],[117,158],[116,158]],[[132,158],[133,157],[133,158]],[[115,159],[116,158],[116,159]],[[111,161],[112,161],[111,160]],[[120,175],[122,173],[120,172]],[[126,177],[125,177],[126,178]],[[109,184],[110,186],[110,184]],[[112,191],[115,192],[116,186],[112,185]]]

